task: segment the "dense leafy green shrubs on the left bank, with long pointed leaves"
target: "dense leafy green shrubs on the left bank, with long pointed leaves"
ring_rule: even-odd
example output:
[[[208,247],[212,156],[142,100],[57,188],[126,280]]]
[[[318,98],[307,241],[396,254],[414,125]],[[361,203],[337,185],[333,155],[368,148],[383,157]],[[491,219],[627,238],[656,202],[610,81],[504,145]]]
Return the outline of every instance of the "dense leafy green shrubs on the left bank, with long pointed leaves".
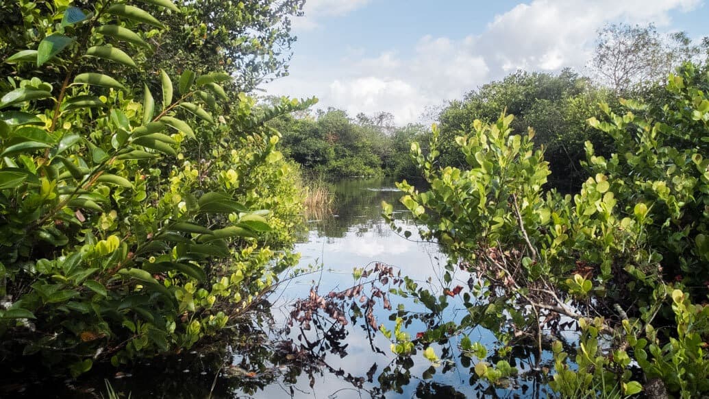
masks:
[[[78,375],[189,348],[296,260],[275,249],[292,243],[297,174],[264,124],[309,102],[259,108],[225,91],[226,73],[150,69],[161,20],[196,18],[202,3],[0,5],[4,366]],[[291,11],[238,8],[253,23]]]

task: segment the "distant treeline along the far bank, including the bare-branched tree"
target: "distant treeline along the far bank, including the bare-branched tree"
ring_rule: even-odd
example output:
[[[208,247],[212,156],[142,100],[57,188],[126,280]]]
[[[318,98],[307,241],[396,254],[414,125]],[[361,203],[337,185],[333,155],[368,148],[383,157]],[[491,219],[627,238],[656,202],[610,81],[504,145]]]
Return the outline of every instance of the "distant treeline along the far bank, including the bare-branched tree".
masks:
[[[437,163],[464,165],[455,138],[474,120],[492,123],[504,111],[515,115],[515,132],[535,131],[535,146],[544,148],[552,165],[546,187],[577,190],[587,174],[581,165],[584,143],[591,141],[600,155],[611,150],[610,139],[587,123],[602,112],[599,104],[618,109],[622,98],[661,104],[664,78],[682,62],[703,62],[708,50],[706,40],[695,44],[685,33],[663,35],[652,25],[607,26],[598,32],[590,76],[570,68],[558,73],[520,70],[447,102],[436,118],[441,135]],[[428,143],[430,129],[392,121],[386,112],[352,118],[330,108],[284,116],[272,126],[283,134],[284,154],[320,175],[420,178],[408,150],[413,141]]]

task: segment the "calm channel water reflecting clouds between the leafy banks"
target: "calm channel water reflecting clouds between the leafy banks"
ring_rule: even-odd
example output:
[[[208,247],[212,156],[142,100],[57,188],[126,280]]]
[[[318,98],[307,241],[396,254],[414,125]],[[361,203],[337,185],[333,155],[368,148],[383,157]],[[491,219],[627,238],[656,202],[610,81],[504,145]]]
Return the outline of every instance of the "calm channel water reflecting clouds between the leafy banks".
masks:
[[[342,319],[347,320],[345,326],[333,323],[320,311],[309,323],[310,329],[298,322],[289,327],[294,303],[308,298],[311,289],[316,288],[315,292],[327,299],[330,292],[359,284],[352,275],[354,268],[372,269],[376,263],[391,266],[394,275],[389,283],[401,272],[431,293],[442,295],[446,258],[436,244],[420,240],[411,215],[398,203],[401,192],[392,181],[347,180],[330,189],[336,196],[333,215],[313,217],[308,222],[308,233],[295,248],[302,253],[299,267],[320,268],[282,284],[269,298],[270,317],[241,325],[239,338],[229,342],[227,348],[217,342],[211,351],[153,359],[147,364],[121,368],[118,373],[107,366],[79,381],[55,381],[52,395],[105,395],[106,379],[116,391],[131,393],[133,398],[547,397],[545,378],[540,368],[532,367],[534,349],[515,348],[512,363],[520,370],[520,376],[490,386],[471,378],[474,362],[460,356],[459,337],[431,345],[439,356],[450,359],[432,365],[420,350],[411,357],[397,358],[390,349],[391,341],[367,327],[371,323],[393,329],[397,307],[403,305],[408,311],[419,312],[403,327],[415,339],[418,332],[426,331],[427,324],[459,321],[467,315],[459,296],[450,299],[451,305],[439,317],[431,317],[423,305],[411,298],[375,297],[374,319],[352,319],[352,302],[358,306],[363,303],[357,295],[353,300],[338,302],[344,312]],[[393,231],[381,217],[382,200],[393,204],[396,224],[412,231],[408,239]],[[469,277],[467,272],[457,270],[451,286],[466,287]],[[386,293],[381,284],[364,285],[364,293],[371,296],[372,288]],[[391,310],[384,308],[385,299]],[[494,342],[493,334],[480,327],[467,333],[473,341],[489,348]],[[550,357],[545,352],[543,366],[551,366]],[[48,397],[45,381],[18,384],[24,384],[21,390],[27,396],[42,393]],[[7,394],[3,389],[0,386],[0,397]]]

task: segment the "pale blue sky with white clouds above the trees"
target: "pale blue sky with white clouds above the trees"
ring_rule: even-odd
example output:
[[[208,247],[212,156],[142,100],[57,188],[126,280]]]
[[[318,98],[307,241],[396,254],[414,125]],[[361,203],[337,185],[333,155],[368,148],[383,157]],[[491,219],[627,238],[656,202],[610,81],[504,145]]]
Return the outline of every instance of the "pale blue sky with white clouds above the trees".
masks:
[[[709,1],[709,0],[708,0]],[[306,0],[296,18],[290,75],[267,94],[318,97],[354,117],[390,112],[396,124],[432,112],[519,69],[588,75],[607,23],[709,35],[705,0]]]

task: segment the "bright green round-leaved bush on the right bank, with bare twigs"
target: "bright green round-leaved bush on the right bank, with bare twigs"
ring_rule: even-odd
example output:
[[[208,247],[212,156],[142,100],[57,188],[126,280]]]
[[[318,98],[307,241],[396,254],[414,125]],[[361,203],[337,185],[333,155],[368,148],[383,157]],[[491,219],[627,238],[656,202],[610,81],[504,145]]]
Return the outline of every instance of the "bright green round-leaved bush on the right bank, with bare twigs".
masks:
[[[573,196],[545,192],[549,163],[534,130],[512,133],[513,116],[474,121],[456,138],[464,168],[440,165],[437,129],[428,155],[414,143],[430,189],[404,181],[401,202],[452,257],[445,281],[459,268],[474,277],[462,293],[469,315],[428,337],[490,329],[497,364],[484,346],[461,341],[490,383],[514,372],[511,346],[533,343],[541,361],[551,335],[550,385],[564,397],[708,392],[709,306],[698,305],[709,280],[708,89],[709,72],[686,65],[669,77],[663,106],[621,100],[616,114],[601,104],[605,115],[588,124],[615,150],[603,157],[586,143],[590,177]],[[447,306],[446,295],[415,285],[401,292],[432,312]],[[580,329],[578,342],[559,334],[568,327]]]

